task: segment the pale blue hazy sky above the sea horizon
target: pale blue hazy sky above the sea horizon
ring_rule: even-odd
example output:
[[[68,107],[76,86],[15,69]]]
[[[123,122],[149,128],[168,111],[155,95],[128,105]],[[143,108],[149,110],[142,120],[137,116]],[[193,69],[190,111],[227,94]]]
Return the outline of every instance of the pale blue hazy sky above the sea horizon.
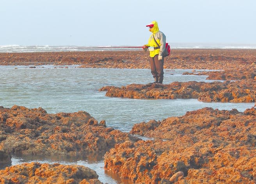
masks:
[[[256,0],[0,0],[0,45],[256,44]]]

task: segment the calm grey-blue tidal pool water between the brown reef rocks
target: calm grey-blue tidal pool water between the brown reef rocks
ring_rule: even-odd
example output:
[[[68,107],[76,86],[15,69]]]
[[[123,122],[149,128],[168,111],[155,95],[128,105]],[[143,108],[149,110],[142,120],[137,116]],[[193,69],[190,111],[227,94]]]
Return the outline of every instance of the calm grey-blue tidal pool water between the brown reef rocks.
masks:
[[[125,99],[106,97],[99,92],[103,86],[125,86],[131,83],[146,84],[153,81],[149,69],[87,69],[68,66],[41,65],[0,66],[0,106],[14,104],[27,108],[42,107],[48,113],[86,111],[92,117],[106,120],[108,127],[129,132],[135,123],[151,119],[162,120],[184,115],[187,111],[203,107],[244,111],[254,103],[203,103],[196,99]],[[173,81],[206,81],[206,76],[182,75],[191,70],[165,69],[164,84]],[[200,70],[206,71],[206,70]],[[102,156],[87,157],[25,157],[13,156],[12,165],[40,161],[47,163],[79,164],[95,170],[102,182],[128,183],[118,175],[105,172]],[[3,168],[3,167],[2,167]]]

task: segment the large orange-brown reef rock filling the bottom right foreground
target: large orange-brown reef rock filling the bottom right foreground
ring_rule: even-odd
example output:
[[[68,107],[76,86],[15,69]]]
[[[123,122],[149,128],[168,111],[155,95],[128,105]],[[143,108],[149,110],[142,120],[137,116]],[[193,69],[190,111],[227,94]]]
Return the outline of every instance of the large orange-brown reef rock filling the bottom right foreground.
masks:
[[[135,124],[155,140],[116,144],[105,169],[135,183],[255,183],[256,109],[203,108]]]

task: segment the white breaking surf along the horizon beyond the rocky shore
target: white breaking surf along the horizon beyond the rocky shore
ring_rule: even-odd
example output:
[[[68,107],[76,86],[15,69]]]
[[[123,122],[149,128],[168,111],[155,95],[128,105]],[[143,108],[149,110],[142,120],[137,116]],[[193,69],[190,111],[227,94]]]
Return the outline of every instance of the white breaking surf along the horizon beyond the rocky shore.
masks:
[[[95,48],[80,48],[86,46],[0,46],[0,53],[25,52],[61,52],[61,51],[126,51],[141,50],[141,48],[97,48],[112,46],[94,46]],[[88,46],[92,47],[92,46]],[[256,44],[210,44],[210,43],[171,43],[171,49],[256,49]]]

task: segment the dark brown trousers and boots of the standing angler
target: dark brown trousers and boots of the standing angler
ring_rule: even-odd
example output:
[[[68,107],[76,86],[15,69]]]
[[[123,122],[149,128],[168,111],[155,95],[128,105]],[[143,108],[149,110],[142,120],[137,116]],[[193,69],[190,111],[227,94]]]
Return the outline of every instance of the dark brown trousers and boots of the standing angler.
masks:
[[[163,83],[164,79],[164,57],[162,60],[158,61],[158,54],[155,57],[149,57],[151,73],[153,78],[155,78],[154,83]]]

